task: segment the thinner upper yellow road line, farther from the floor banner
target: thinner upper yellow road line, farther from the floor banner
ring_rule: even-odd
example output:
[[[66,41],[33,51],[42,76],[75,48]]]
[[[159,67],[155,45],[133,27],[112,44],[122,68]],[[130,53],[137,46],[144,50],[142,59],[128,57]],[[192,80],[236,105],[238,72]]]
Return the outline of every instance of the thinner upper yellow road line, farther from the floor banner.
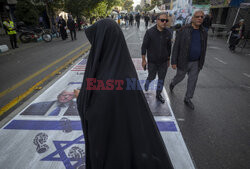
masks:
[[[84,46],[86,46],[88,43],[85,43],[81,46],[79,46],[78,48],[72,50],[71,52],[69,52],[68,54],[66,54],[65,56],[61,57],[60,59],[54,61],[53,63],[51,63],[50,65],[42,68],[41,70],[37,71],[36,73],[30,75],[29,77],[25,78],[24,80],[18,82],[17,84],[13,85],[12,87],[4,90],[3,92],[0,93],[0,98],[2,98],[3,96],[5,96],[6,94],[12,92],[13,90],[17,89],[18,87],[22,86],[23,84],[25,84],[26,82],[30,81],[31,79],[33,79],[34,77],[38,76],[39,74],[43,73],[44,71],[48,70],[50,67],[54,66],[55,64],[59,63],[60,61],[62,61],[63,59],[67,58],[68,56],[72,55],[73,53],[75,53],[76,51],[78,51],[79,49],[83,48]]]

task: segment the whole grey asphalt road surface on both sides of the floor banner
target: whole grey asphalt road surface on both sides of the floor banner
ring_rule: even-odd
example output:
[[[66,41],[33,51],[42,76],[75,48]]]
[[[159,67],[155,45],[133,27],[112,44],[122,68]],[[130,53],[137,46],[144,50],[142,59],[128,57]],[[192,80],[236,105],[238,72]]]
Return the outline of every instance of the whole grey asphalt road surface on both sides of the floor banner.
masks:
[[[141,42],[145,33],[135,26],[122,28],[131,57],[141,57]],[[0,91],[22,81],[32,73],[63,57],[86,43],[84,33],[78,33],[78,40],[57,40],[1,56]],[[250,166],[250,52],[228,51],[225,40],[208,40],[207,56],[200,72],[193,98],[195,110],[183,104],[186,79],[178,84],[171,94],[168,85],[176,71],[169,68],[165,87],[171,106],[185,143],[198,169],[248,169]],[[74,54],[72,54],[74,55]],[[72,57],[71,55],[71,57]],[[53,71],[59,65],[55,65]],[[44,74],[49,74],[49,70]],[[4,97],[8,99],[30,88],[45,75]],[[14,95],[14,96],[12,96]]]

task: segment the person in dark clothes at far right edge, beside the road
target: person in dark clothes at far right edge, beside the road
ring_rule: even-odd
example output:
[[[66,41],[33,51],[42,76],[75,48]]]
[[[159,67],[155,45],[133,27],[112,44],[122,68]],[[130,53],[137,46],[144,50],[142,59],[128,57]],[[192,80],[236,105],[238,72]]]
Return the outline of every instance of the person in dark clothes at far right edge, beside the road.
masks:
[[[244,19],[241,19],[239,23],[233,25],[231,28],[231,36],[229,39],[229,49],[234,52],[235,46],[238,45],[240,39],[244,39],[245,24]]]

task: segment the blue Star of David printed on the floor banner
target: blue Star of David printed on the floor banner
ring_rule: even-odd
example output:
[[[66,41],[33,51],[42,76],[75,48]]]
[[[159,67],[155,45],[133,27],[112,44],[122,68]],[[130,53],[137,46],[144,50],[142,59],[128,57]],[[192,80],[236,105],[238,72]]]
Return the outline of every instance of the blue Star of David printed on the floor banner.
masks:
[[[49,154],[47,157],[41,159],[41,161],[62,161],[66,169],[76,169],[80,165],[83,165],[85,159],[68,158],[64,150],[66,150],[67,148],[69,148],[74,144],[84,144],[84,141],[81,141],[83,140],[83,138],[84,138],[83,135],[81,135],[80,137],[76,138],[73,141],[53,141],[56,147],[56,151]],[[55,157],[57,155],[59,155],[60,157]],[[72,165],[72,163],[74,164]]]

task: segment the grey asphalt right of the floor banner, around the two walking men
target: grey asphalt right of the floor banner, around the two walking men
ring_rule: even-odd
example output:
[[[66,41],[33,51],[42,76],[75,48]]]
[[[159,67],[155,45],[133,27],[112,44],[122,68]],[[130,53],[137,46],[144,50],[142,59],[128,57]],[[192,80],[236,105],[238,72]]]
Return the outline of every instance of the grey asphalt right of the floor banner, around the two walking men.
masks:
[[[131,56],[141,57],[145,29],[133,27],[123,31],[125,37],[130,35],[127,44]],[[225,40],[210,37],[193,98],[194,111],[183,104],[187,79],[172,94],[169,92],[168,85],[176,71],[168,69],[165,87],[171,107],[198,169],[250,167],[249,65],[250,50],[231,53]]]

